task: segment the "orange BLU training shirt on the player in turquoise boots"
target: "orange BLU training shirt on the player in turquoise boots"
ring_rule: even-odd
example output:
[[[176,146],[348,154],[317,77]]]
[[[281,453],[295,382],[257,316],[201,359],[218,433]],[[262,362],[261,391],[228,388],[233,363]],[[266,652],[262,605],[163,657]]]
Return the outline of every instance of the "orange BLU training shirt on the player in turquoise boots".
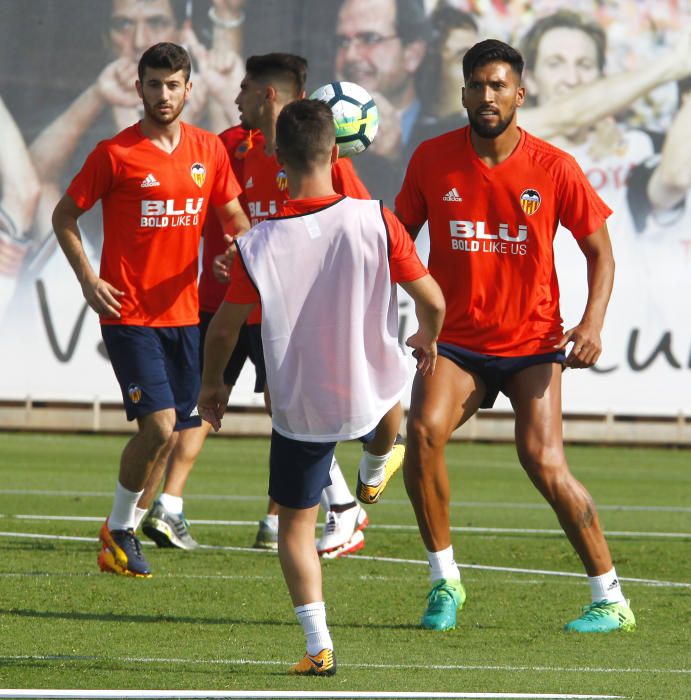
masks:
[[[396,197],[406,226],[429,221],[429,270],[446,299],[439,340],[515,357],[551,352],[562,333],[553,240],[578,240],[612,213],[576,161],[521,130],[490,168],[464,127],[422,143]]]

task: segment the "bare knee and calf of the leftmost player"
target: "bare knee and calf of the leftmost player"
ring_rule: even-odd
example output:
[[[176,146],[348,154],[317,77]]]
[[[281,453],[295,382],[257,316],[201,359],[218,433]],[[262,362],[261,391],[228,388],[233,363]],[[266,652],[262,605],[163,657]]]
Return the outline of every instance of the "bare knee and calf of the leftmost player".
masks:
[[[120,483],[130,491],[141,491],[158,460],[168,459],[173,446],[175,409],[155,411],[137,418],[139,430],[127,443],[120,458]]]

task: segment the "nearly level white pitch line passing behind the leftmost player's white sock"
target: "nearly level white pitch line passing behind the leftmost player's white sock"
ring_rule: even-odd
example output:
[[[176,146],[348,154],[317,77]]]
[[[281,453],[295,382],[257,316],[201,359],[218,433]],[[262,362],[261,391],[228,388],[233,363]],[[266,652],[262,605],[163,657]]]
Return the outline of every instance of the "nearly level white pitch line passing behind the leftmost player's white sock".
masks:
[[[0,518],[13,517],[17,520],[55,520],[63,522],[102,522],[103,516],[87,516],[87,515],[30,515],[17,514],[6,516],[0,513]],[[213,525],[220,527],[256,527],[256,520],[190,520],[191,525]],[[402,532],[417,532],[417,525],[385,525],[385,524],[370,524],[367,526],[369,530],[391,530]],[[525,528],[525,527],[452,527],[451,532],[475,532],[479,534],[492,535],[559,535],[565,537],[563,530],[557,529],[540,529],[540,528]],[[628,530],[607,530],[607,537],[663,537],[674,539],[691,539],[691,532],[638,532]]]

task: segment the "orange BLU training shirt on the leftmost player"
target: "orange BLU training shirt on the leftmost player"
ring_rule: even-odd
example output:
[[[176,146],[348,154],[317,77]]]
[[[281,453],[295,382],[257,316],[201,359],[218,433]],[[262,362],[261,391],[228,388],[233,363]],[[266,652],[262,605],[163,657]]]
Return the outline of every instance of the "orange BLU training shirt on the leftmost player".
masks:
[[[219,138],[182,123],[167,153],[139,124],[101,141],[67,189],[81,209],[103,206],[100,277],[125,294],[104,324],[186,326],[199,321],[198,251],[209,204],[240,187]]]

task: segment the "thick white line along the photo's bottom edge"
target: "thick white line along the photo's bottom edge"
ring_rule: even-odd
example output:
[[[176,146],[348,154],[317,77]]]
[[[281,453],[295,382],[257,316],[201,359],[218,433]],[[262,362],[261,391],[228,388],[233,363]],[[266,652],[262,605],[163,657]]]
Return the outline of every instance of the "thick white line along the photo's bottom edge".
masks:
[[[623,695],[552,693],[411,693],[344,690],[0,690],[0,698],[538,698],[600,700]]]

